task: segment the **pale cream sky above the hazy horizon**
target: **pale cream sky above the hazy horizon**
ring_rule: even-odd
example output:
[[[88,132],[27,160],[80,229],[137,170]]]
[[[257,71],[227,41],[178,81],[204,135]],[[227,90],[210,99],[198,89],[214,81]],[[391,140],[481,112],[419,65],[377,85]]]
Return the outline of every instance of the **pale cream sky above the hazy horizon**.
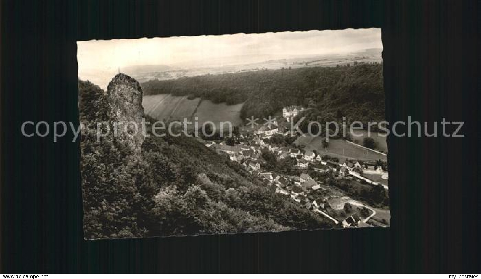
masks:
[[[112,77],[136,65],[208,67],[369,48],[382,48],[380,28],[78,41],[78,76]]]

